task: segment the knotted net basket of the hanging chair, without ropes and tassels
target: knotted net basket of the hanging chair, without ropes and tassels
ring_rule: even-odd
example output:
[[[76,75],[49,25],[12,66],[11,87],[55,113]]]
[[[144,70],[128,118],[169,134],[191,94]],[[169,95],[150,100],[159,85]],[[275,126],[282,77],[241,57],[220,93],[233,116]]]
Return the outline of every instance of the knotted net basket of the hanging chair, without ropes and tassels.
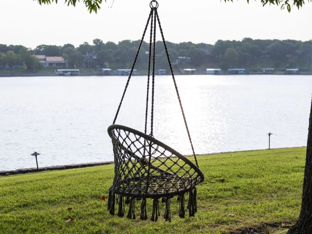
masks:
[[[158,140],[122,125],[111,125],[108,133],[115,157],[114,192],[132,197],[174,196],[201,182],[199,169],[188,158]]]

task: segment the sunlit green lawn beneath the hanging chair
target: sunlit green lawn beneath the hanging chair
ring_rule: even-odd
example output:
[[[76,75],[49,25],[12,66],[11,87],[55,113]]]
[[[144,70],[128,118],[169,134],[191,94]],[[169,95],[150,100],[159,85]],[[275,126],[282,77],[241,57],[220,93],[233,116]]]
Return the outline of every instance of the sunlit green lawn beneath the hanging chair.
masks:
[[[305,150],[198,156],[205,174],[205,181],[197,186],[198,212],[195,217],[181,219],[178,202],[172,199],[170,223],[163,217],[158,222],[139,220],[140,202],[136,220],[107,212],[106,201],[97,197],[107,196],[114,165],[1,177],[0,233],[225,234],[251,229],[257,233],[286,233],[300,212]],[[150,218],[151,201],[147,211]],[[164,212],[163,204],[160,212]],[[68,215],[73,222],[65,223]]]

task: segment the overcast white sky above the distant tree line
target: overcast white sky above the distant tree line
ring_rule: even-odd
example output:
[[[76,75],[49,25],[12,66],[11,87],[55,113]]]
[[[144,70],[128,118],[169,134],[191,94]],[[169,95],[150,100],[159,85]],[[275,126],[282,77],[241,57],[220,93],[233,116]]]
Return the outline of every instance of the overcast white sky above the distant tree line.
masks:
[[[40,6],[32,0],[0,0],[0,44],[40,44],[75,46],[94,38],[104,42],[138,40],[149,15],[149,0],[112,0],[100,11],[89,14],[83,3],[67,7],[64,0],[56,5]],[[260,0],[158,0],[158,14],[165,39],[214,44],[218,39],[312,39],[312,4],[291,13],[276,6],[262,7]]]

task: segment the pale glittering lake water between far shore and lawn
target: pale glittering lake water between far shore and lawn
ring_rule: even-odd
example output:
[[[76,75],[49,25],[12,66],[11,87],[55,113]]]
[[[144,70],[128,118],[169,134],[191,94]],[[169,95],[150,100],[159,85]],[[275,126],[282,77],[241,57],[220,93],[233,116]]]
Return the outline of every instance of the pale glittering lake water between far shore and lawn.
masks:
[[[113,160],[127,77],[0,77],[0,170]],[[146,77],[134,76],[116,124],[144,131]],[[154,137],[192,154],[170,76],[155,78]],[[176,76],[197,154],[305,146],[312,76]]]

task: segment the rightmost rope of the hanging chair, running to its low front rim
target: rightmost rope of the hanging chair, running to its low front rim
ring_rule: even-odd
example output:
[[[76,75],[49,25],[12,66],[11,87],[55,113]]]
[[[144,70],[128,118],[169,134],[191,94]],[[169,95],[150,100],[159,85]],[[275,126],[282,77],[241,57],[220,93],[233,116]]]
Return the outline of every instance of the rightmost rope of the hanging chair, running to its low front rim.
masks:
[[[181,102],[181,99],[180,99],[180,95],[179,95],[179,91],[178,91],[178,86],[177,86],[176,80],[175,80],[175,78],[174,78],[173,68],[172,68],[171,61],[170,61],[170,57],[169,57],[169,54],[168,54],[168,48],[167,48],[167,45],[166,45],[165,38],[164,38],[164,36],[163,36],[163,29],[162,29],[162,27],[161,27],[161,25],[160,25],[160,20],[159,20],[157,8],[155,8],[155,14],[156,14],[156,16],[157,16],[157,21],[158,21],[158,25],[159,25],[161,37],[162,37],[162,39],[163,39],[163,45],[164,45],[164,47],[165,47],[165,51],[166,51],[166,55],[167,55],[167,60],[168,60],[168,63],[169,63],[169,68],[170,68],[170,72],[171,72],[171,75],[172,75],[174,87],[175,87],[175,90],[176,90],[177,95],[178,95],[178,100],[179,100],[180,108],[181,108],[181,111],[182,111],[182,115],[183,115],[183,120],[184,120],[185,128],[186,128],[186,131],[188,132],[188,139],[189,139],[190,144],[191,144],[191,148],[192,148],[192,151],[193,151],[193,156],[194,156],[194,159],[195,159],[196,166],[199,168],[198,162],[197,162],[197,158],[196,158],[196,154],[195,154],[194,147],[193,147],[193,143],[192,143],[192,139],[191,139],[191,135],[190,135],[190,131],[188,130],[188,124],[187,124],[187,122],[186,122],[186,118],[185,118],[185,115],[184,115],[184,110],[183,110],[183,107],[182,107],[182,102]]]

